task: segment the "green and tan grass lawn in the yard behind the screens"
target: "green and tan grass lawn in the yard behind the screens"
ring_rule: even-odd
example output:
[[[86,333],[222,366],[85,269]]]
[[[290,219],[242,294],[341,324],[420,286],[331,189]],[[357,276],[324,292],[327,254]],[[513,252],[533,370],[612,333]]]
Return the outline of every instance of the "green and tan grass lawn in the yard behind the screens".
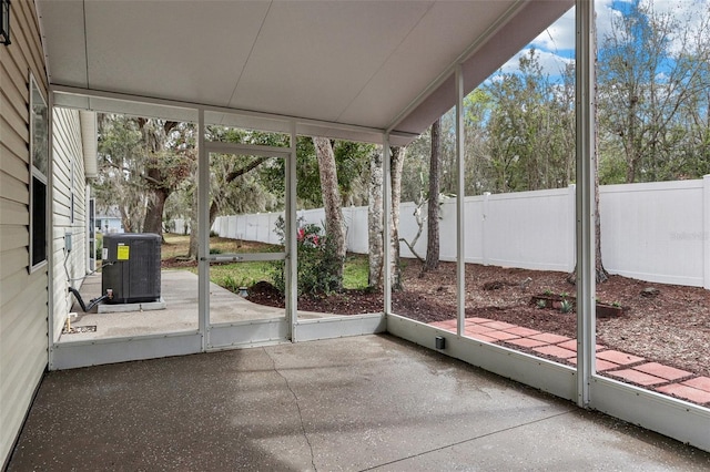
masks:
[[[165,243],[162,245],[161,254],[162,259],[171,259],[187,254],[190,236],[165,234],[164,238]],[[280,246],[271,244],[221,237],[211,237],[210,248],[212,253],[219,254],[274,253],[282,250]],[[187,270],[194,274],[197,273],[196,267],[189,267]],[[273,271],[274,265],[270,261],[220,264],[210,267],[210,280],[232,291],[236,291],[239,287],[250,287],[261,280],[273,283]],[[343,271],[343,286],[345,288],[366,288],[367,271],[366,255],[348,254]]]

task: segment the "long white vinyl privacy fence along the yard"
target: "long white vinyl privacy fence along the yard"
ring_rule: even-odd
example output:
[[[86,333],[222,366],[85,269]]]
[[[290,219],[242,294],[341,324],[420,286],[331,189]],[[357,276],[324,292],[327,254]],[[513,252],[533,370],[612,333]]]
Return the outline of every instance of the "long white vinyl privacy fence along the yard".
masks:
[[[710,288],[710,176],[696,181],[600,188],[605,267],[641,280]],[[414,203],[403,203],[399,235],[412,242]],[[422,208],[426,213],[426,207]],[[367,254],[367,207],[343,209],[348,250]],[[220,236],[278,243],[280,214],[219,217]],[[322,208],[300,211],[323,225]],[[465,198],[467,263],[571,271],[575,268],[575,186]],[[414,257],[405,244],[403,257]],[[426,255],[426,227],[415,250]],[[456,260],[456,199],[442,204],[440,259]]]

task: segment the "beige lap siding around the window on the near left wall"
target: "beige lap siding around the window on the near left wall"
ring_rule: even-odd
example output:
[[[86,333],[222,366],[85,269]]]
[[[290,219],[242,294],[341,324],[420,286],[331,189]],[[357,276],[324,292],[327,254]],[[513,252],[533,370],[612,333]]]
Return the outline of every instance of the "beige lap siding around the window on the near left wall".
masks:
[[[48,266],[29,273],[30,72],[47,99],[34,2],[11,3],[0,45],[0,466],[48,363]]]

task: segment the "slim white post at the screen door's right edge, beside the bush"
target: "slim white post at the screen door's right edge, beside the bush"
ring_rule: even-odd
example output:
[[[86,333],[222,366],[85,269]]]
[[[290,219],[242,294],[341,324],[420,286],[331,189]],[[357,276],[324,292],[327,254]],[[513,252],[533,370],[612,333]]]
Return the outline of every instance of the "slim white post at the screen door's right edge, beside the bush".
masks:
[[[286,285],[286,324],[288,337],[296,342],[296,325],[298,322],[298,250],[296,248],[296,121],[291,121],[291,155],[286,161],[286,264],[284,280]]]

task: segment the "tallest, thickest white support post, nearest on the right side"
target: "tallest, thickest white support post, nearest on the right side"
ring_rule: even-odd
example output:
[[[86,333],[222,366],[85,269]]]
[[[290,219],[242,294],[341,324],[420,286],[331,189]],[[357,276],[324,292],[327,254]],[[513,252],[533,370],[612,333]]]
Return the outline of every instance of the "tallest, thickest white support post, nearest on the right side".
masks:
[[[589,406],[595,373],[595,14],[594,2],[576,0],[577,119],[577,404]]]

